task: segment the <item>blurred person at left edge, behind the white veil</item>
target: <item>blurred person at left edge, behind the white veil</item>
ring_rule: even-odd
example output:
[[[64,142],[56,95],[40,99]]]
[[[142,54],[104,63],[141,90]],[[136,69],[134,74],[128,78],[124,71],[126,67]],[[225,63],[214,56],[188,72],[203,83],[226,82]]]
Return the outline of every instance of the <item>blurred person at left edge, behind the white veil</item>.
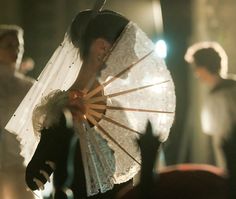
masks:
[[[4,127],[31,87],[33,80],[16,75],[23,55],[23,30],[0,25],[0,198],[32,199],[26,190],[25,167],[16,136]]]

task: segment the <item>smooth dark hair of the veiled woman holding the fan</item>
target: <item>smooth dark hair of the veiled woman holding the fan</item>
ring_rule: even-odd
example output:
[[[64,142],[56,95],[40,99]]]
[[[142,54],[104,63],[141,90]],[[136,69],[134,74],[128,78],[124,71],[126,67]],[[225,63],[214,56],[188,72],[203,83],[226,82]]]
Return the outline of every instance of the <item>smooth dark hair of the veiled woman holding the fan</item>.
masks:
[[[110,10],[98,13],[86,10],[77,14],[69,35],[74,46],[79,48],[81,58],[85,59],[95,39],[103,38],[111,44],[114,43],[128,22],[128,19]]]

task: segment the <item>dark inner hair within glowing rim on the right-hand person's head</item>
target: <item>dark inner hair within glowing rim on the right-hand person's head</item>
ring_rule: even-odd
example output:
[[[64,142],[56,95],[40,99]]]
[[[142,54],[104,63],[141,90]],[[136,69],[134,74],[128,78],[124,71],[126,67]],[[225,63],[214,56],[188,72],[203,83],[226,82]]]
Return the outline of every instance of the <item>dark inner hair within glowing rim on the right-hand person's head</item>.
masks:
[[[214,48],[202,48],[193,54],[196,67],[204,67],[212,74],[219,74],[221,57]]]

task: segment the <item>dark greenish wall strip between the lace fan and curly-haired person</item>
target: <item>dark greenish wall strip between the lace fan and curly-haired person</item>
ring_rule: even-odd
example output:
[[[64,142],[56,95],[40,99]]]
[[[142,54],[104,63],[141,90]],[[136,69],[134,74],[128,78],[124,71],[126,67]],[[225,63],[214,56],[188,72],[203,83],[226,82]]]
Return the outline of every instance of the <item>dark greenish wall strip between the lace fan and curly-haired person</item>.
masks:
[[[188,108],[188,66],[184,54],[191,36],[191,1],[162,0],[164,38],[168,44],[167,66],[176,89],[176,117],[165,143],[167,164],[176,164],[181,149]],[[187,161],[187,160],[186,160]]]

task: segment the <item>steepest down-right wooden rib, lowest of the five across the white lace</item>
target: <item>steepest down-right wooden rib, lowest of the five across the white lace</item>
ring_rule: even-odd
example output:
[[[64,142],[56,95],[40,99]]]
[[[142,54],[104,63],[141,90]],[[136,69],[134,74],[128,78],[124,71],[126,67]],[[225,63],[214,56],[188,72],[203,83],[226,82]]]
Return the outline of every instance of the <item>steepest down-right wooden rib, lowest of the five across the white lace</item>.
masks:
[[[96,126],[104,135],[106,135],[115,145],[117,145],[126,155],[128,155],[137,164],[141,165],[125,148],[123,148],[102,126],[100,126],[97,121],[91,115],[87,115],[87,119]]]

